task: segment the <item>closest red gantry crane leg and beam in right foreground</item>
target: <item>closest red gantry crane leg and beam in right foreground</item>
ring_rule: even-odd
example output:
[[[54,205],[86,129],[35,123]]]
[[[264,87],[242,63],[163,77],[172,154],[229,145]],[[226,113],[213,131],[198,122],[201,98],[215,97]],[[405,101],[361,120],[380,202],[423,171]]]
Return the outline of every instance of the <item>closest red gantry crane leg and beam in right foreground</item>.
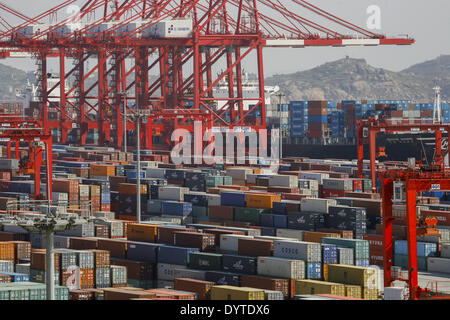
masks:
[[[384,170],[379,173],[382,182],[382,216],[383,216],[383,237],[384,237],[384,286],[389,287],[395,280],[403,280],[408,283],[409,297],[413,300],[432,297],[433,288],[420,288],[418,285],[418,266],[417,266],[417,234],[418,222],[416,211],[417,193],[429,190],[450,190],[450,170],[432,166],[411,167],[404,170]],[[394,182],[404,184],[406,194],[406,215],[404,217],[395,217],[392,214],[392,204],[394,198]],[[407,277],[395,279],[392,275],[393,265],[393,221],[404,221],[407,227],[408,244],[408,271]],[[444,299],[446,296],[438,294],[436,283],[436,295],[433,298]],[[447,297],[448,298],[448,297]]]

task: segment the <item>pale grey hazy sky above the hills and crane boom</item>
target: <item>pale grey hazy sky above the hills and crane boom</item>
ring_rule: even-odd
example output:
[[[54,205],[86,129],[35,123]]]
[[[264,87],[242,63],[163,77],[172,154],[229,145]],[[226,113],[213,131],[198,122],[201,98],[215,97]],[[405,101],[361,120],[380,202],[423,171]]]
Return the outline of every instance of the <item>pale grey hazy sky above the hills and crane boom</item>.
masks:
[[[4,3],[27,14],[35,16],[45,9],[62,3],[62,0],[3,0]],[[290,0],[280,0],[288,4]],[[381,30],[376,33],[387,35],[408,34],[416,39],[412,46],[382,46],[354,48],[304,48],[265,49],[264,71],[290,73],[310,69],[328,61],[343,58],[365,58],[369,64],[399,71],[412,64],[430,60],[443,54],[450,54],[450,1],[449,0],[309,0],[343,19],[366,28],[368,6],[381,9]],[[296,13],[302,15],[302,11]],[[25,70],[34,70],[34,64],[24,59],[3,60]],[[254,71],[254,66],[244,66]]]

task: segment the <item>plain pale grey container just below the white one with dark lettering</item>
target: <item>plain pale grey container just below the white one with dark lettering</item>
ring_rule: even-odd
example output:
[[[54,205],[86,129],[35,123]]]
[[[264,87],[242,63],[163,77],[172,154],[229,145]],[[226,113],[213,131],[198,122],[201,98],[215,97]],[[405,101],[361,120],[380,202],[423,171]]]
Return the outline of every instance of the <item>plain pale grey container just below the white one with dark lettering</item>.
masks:
[[[274,257],[258,257],[257,273],[261,276],[304,279],[305,261]]]

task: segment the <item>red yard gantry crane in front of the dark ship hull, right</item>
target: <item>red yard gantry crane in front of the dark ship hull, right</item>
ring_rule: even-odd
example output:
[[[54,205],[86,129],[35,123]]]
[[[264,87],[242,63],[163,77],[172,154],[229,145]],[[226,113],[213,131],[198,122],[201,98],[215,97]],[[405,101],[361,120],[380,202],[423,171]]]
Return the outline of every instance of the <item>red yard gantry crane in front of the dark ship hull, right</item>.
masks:
[[[445,161],[442,154],[442,133],[450,132],[450,124],[426,123],[424,121],[398,121],[387,119],[362,119],[357,123],[357,155],[358,155],[358,177],[363,178],[364,140],[368,139],[370,150],[370,177],[372,179],[372,191],[376,192],[376,135],[378,133],[396,132],[434,132],[436,137],[436,154],[434,165],[444,167]],[[450,154],[447,153],[447,159]]]

